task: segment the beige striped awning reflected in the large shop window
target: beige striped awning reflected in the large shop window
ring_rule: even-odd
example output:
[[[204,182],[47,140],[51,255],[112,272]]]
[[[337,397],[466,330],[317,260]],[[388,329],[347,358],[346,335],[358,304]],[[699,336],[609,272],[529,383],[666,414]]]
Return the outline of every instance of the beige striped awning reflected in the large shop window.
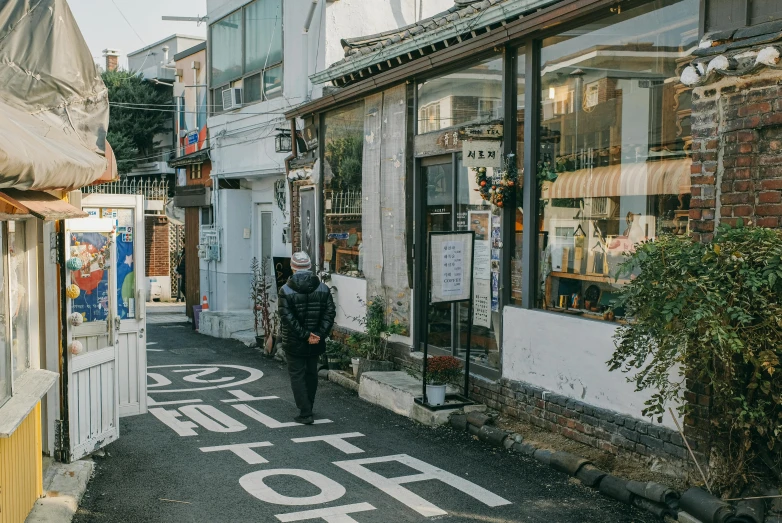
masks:
[[[690,192],[692,160],[662,160],[559,173],[543,184],[543,198],[599,198],[603,196],[681,195]]]

